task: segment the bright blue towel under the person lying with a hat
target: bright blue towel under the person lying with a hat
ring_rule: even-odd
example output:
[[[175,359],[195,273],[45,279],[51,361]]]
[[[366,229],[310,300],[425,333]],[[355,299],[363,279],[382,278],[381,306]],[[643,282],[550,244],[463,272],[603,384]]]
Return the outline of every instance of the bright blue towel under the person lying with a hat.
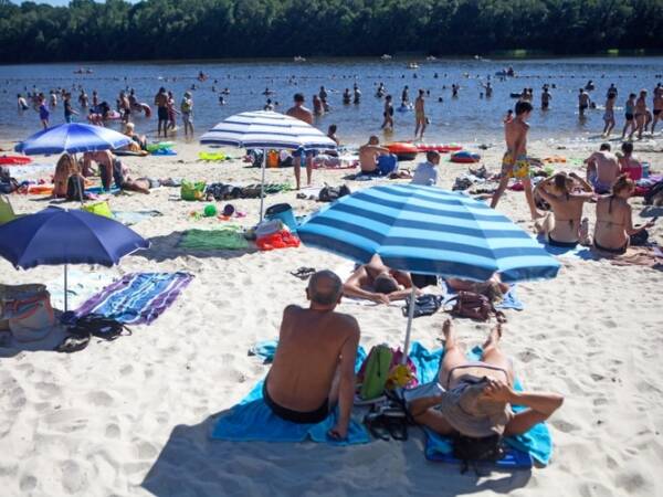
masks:
[[[475,347],[467,353],[467,359],[471,361],[478,361],[481,359],[482,348]],[[430,352],[425,347],[414,342],[412,343],[412,350],[410,352],[410,358],[417,364],[417,373],[419,378],[419,382],[427,383],[434,380],[439,367],[440,360],[443,357],[442,349]],[[433,372],[434,371],[434,372]],[[523,391],[523,384],[516,378],[514,389],[516,391]],[[520,405],[512,405],[514,412],[523,411],[525,408]],[[425,456],[432,461],[442,461],[442,462],[455,462],[453,457],[451,457],[452,445],[451,438],[439,435],[430,430],[425,430],[428,435],[428,441],[425,445]],[[537,463],[541,465],[547,465],[550,462],[550,456],[552,455],[552,438],[550,437],[550,432],[548,426],[545,423],[536,424],[532,430],[527,433],[518,436],[507,436],[504,438],[506,444],[520,453],[525,453],[528,456],[532,456]],[[508,454],[502,464],[497,466],[503,467],[530,467],[527,466],[527,457],[524,457],[523,454],[512,453]]]

